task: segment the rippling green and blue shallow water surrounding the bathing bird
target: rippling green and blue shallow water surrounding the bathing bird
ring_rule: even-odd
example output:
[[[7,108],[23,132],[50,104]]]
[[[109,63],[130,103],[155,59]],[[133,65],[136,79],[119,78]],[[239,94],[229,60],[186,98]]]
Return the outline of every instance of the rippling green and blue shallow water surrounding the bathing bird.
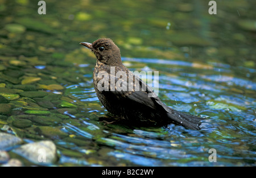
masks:
[[[0,131],[52,140],[52,165],[255,166],[255,3],[216,2],[209,15],[208,1],[46,1],[39,15],[38,1],[0,0]],[[202,129],[100,122],[96,58],[79,43],[101,37],[131,71],[159,71],[161,100]]]

